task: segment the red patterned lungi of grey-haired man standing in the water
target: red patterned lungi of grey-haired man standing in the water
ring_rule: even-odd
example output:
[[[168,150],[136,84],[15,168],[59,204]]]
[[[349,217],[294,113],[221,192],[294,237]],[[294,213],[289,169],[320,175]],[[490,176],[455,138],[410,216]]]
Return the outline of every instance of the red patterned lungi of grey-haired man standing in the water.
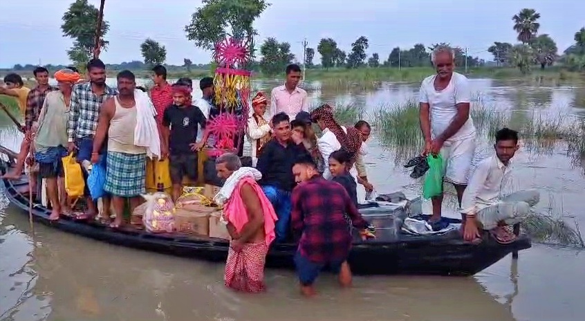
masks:
[[[240,252],[230,248],[225,264],[225,286],[236,291],[259,293],[266,290],[264,264],[268,246],[266,242],[244,244]]]

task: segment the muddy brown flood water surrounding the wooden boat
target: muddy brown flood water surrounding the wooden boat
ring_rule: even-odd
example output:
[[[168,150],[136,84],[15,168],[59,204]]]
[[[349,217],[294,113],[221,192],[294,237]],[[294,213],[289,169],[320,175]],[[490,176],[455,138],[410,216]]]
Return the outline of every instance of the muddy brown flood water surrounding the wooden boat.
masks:
[[[259,82],[269,92],[275,83]],[[196,87],[196,86],[195,86]],[[512,118],[585,116],[585,87],[472,80],[490,108]],[[384,84],[369,92],[310,91],[313,100],[375,109],[416,97],[418,84]],[[0,116],[0,144],[21,136]],[[369,178],[379,192],[417,185],[396,162],[396,150],[374,136]],[[484,142],[479,155],[489,154]],[[585,226],[583,162],[566,146],[517,154],[514,188],[537,188],[539,210],[575,217]],[[402,156],[400,156],[402,157]],[[481,157],[481,156],[479,156]],[[0,192],[1,194],[2,192]],[[32,232],[26,213],[0,195],[0,320],[584,320],[585,252],[535,243],[519,260],[505,257],[474,277],[363,277],[340,291],[331,275],[305,300],[292,272],[267,270],[268,293],[242,295],[223,286],[223,266],[110,246],[45,226]],[[445,204],[454,215],[452,204]],[[429,204],[425,204],[429,210]],[[570,221],[570,219],[568,219]],[[375,264],[375,262],[372,262]]]

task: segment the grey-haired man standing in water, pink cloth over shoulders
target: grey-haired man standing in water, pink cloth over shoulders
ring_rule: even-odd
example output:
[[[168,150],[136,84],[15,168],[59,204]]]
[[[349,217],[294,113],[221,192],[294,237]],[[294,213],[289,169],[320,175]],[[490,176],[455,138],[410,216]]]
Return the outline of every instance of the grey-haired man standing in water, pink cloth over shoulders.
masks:
[[[217,176],[225,179],[214,197],[223,205],[232,241],[225,264],[225,286],[236,291],[264,291],[264,264],[270,243],[276,238],[277,216],[257,181],[262,174],[253,167],[241,167],[236,154],[216,159]]]

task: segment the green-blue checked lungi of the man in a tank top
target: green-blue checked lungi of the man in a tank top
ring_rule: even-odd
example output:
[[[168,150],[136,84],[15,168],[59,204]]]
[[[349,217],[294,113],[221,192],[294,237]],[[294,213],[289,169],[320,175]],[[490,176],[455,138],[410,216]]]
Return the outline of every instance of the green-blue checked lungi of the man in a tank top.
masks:
[[[106,163],[106,192],[120,197],[139,196],[146,192],[146,154],[108,152]]]

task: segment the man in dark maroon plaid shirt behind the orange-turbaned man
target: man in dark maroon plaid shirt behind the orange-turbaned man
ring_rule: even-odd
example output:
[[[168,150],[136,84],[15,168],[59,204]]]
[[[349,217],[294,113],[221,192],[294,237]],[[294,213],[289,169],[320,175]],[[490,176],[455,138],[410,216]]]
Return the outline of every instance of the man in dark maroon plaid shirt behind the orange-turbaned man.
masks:
[[[24,134],[24,140],[22,140],[22,144],[20,145],[20,152],[18,154],[17,164],[12,172],[3,176],[3,178],[8,179],[18,179],[20,178],[20,174],[22,169],[24,168],[24,160],[28,155],[28,150],[30,149],[30,142],[32,140],[30,127],[32,127],[32,122],[36,122],[39,118],[39,112],[41,111],[41,107],[43,107],[43,102],[45,100],[45,96],[50,91],[56,91],[57,89],[53,86],[48,84],[48,71],[44,67],[37,67],[35,68],[32,73],[35,75],[35,80],[37,81],[37,86],[33,88],[31,91],[28,92],[26,95],[26,107],[24,110],[24,128],[26,132]],[[32,179],[33,185],[35,185],[36,180]],[[32,187],[32,190],[35,190],[35,187]]]

